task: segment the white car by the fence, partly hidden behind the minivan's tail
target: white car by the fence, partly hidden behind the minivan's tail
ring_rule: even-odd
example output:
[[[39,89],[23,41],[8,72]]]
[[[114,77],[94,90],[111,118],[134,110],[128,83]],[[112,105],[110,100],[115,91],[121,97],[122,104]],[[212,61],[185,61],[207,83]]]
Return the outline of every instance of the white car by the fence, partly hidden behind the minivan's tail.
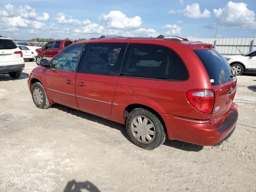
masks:
[[[226,60],[237,75],[244,72],[256,73],[256,50],[241,55],[227,56]]]

